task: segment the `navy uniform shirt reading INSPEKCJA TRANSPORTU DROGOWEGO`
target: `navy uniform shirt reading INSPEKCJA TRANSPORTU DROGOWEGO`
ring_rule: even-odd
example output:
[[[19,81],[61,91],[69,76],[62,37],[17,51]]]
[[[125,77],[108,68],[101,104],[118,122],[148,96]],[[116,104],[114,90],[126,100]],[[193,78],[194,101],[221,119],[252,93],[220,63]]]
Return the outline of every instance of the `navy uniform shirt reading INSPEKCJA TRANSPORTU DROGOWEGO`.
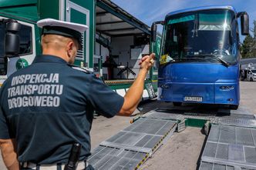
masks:
[[[0,138],[15,138],[19,162],[67,162],[74,142],[90,154],[89,131],[96,109],[107,118],[123,105],[99,78],[52,55],[37,56],[12,74],[0,92]]]

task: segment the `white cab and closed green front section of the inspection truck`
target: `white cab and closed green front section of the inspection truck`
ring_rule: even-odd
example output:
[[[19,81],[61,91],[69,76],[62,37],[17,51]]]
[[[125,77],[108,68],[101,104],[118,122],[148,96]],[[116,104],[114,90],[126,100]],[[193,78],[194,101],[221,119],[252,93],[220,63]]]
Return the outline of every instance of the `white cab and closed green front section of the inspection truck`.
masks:
[[[86,0],[24,0],[10,2],[0,1],[0,18],[10,18],[19,22],[20,47],[19,55],[8,58],[7,72],[0,75],[2,84],[8,75],[20,68],[30,65],[35,55],[41,53],[41,30],[36,22],[42,18],[56,18],[68,22],[76,22],[89,26],[83,34],[83,50],[79,50],[76,57],[76,65],[92,67],[93,62],[89,56],[93,56],[95,38],[95,1]],[[4,43],[2,43],[3,45]]]

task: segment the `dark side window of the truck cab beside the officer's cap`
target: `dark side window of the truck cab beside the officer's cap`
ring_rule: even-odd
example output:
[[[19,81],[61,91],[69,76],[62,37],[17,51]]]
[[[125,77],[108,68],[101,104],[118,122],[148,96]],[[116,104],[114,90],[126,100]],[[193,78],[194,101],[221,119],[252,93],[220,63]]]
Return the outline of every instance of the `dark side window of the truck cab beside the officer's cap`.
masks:
[[[32,53],[32,28],[28,25],[21,26],[19,31],[19,55],[27,55]]]

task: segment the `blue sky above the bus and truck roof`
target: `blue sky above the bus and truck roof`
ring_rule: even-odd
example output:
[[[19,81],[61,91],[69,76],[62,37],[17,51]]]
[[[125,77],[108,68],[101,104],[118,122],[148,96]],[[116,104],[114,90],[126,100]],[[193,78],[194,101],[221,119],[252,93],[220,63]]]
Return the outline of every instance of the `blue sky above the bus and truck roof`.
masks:
[[[206,5],[231,5],[237,12],[248,12],[250,28],[256,20],[256,0],[111,0],[126,12],[151,26],[152,22],[161,21],[169,12],[184,8]],[[239,29],[241,31],[241,27]],[[252,35],[252,34],[251,34]],[[244,37],[241,36],[241,40]]]

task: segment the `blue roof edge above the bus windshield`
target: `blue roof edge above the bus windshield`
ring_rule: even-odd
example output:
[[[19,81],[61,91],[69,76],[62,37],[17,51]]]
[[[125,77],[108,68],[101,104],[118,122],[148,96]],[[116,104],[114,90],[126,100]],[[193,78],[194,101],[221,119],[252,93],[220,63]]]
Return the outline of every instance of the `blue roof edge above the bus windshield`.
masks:
[[[182,14],[182,13],[186,13],[186,12],[197,12],[197,11],[203,11],[203,10],[211,10],[211,9],[229,9],[232,10],[234,12],[235,9],[232,6],[201,6],[201,7],[196,7],[196,8],[186,8],[186,9],[181,9],[181,10],[177,10],[174,12],[170,12],[169,14],[167,14],[167,17],[171,16],[171,15],[177,15],[177,14]]]

